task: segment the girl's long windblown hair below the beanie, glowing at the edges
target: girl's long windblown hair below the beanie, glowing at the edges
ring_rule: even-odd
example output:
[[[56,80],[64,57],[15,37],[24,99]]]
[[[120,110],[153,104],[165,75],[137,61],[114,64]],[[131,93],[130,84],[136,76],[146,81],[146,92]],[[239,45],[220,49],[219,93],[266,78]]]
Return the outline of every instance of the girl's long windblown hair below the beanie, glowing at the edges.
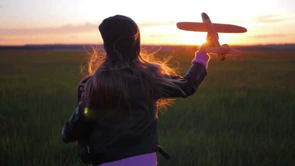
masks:
[[[180,80],[171,78],[178,74],[178,65],[175,62],[171,63],[171,55],[157,57],[155,55],[157,51],[141,48],[136,58],[126,61],[119,52],[115,52],[113,55],[115,58],[112,58],[112,55],[106,55],[94,46],[91,46],[91,51],[86,50],[86,52],[88,55],[86,68],[92,75],[83,94],[87,107],[101,110],[114,110],[118,105],[128,107],[126,87],[127,80],[132,78],[141,80],[141,86],[145,89],[143,95],[148,95],[147,102],[151,106],[155,105],[156,108],[166,108],[174,103],[175,99],[158,98],[161,95],[165,96],[167,89],[178,88],[182,91],[175,85]],[[155,99],[157,99],[156,102],[154,102]],[[154,112],[150,107],[149,113],[157,117],[157,109]]]

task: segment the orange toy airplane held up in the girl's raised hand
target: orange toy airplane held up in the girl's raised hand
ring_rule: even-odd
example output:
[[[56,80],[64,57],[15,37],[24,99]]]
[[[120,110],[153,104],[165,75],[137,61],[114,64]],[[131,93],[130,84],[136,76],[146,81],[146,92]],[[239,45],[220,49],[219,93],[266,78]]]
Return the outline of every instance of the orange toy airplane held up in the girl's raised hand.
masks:
[[[176,26],[182,30],[190,31],[206,31],[208,32],[207,37],[210,37],[213,41],[215,47],[208,47],[206,52],[217,53],[220,57],[220,60],[225,59],[226,54],[235,54],[240,55],[241,52],[234,48],[229,48],[227,44],[220,46],[218,41],[218,33],[242,33],[246,32],[247,29],[241,26],[231,25],[231,24],[221,24],[221,23],[212,23],[209,16],[202,12],[201,13],[203,22],[177,22]]]

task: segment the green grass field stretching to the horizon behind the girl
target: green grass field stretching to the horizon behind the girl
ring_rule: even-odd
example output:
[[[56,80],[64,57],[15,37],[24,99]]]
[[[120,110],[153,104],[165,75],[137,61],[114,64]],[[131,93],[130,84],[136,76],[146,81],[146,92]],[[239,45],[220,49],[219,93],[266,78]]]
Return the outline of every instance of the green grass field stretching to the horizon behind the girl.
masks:
[[[169,53],[169,52],[159,52]],[[212,56],[196,93],[159,113],[158,165],[295,165],[295,52]],[[194,51],[174,53],[181,75]],[[0,50],[0,165],[80,165],[61,128],[79,51]]]

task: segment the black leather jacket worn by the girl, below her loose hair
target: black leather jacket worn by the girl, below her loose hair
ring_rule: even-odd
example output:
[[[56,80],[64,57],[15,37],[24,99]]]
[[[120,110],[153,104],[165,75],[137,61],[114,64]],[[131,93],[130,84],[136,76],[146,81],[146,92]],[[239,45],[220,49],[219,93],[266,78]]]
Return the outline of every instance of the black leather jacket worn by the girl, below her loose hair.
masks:
[[[182,91],[177,88],[169,89],[170,92],[162,97],[192,95],[206,74],[203,65],[193,63],[184,77],[172,76],[181,80],[177,86]],[[134,109],[128,110],[132,118],[126,111],[120,110],[111,118],[91,121],[85,117],[83,103],[79,102],[72,116],[64,124],[63,141],[67,143],[79,140],[87,144],[93,165],[155,151],[154,144],[158,144],[157,118],[148,118],[146,97],[142,94],[139,83],[132,80],[128,87],[128,99],[136,105]],[[153,108],[156,109],[155,106]]]

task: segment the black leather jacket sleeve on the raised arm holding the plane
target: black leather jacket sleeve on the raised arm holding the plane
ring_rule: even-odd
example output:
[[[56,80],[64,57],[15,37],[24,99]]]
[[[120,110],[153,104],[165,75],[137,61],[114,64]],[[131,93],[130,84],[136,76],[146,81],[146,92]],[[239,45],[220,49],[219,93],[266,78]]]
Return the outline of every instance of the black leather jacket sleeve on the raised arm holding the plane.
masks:
[[[207,71],[205,67],[200,63],[192,63],[191,67],[187,71],[184,77],[179,75],[170,76],[172,79],[178,79],[175,82],[175,87],[166,86],[164,87],[164,94],[160,95],[162,98],[173,98],[173,97],[187,97],[192,95],[201,81],[206,76]]]

